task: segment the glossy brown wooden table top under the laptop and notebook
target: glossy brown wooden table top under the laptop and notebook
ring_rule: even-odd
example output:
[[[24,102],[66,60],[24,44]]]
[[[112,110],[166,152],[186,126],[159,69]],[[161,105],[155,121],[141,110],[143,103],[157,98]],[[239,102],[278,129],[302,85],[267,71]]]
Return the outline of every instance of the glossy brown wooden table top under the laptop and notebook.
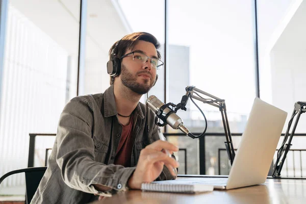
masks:
[[[262,185],[200,194],[130,190],[94,203],[306,203],[306,180],[267,179]]]

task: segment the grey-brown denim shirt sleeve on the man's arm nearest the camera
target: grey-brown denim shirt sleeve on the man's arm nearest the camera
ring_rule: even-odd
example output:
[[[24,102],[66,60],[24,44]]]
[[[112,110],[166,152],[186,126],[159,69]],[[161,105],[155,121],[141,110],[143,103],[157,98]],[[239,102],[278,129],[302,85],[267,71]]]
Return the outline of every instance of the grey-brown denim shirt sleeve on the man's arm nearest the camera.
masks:
[[[57,131],[57,164],[69,187],[87,193],[110,196],[127,189],[127,180],[135,167],[106,165],[95,161],[92,139],[93,114],[84,97],[76,97],[65,106]],[[94,184],[110,187],[100,192]]]

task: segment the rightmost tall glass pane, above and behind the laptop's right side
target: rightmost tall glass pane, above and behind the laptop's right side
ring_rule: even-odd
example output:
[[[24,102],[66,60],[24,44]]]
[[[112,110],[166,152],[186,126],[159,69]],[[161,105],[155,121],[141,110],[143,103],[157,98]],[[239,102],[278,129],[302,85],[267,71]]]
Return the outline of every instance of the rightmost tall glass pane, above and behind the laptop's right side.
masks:
[[[301,29],[306,2],[259,0],[257,4],[261,98],[288,112],[285,133],[294,104],[306,101],[306,31]],[[302,115],[296,133],[306,132],[301,125],[305,122]]]

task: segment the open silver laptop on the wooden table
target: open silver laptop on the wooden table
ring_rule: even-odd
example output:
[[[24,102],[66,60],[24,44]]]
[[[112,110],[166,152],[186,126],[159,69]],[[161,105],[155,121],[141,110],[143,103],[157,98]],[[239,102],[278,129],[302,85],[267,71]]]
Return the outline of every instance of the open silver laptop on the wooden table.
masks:
[[[265,183],[286,118],[287,112],[255,98],[228,178],[196,177],[162,182],[207,184],[213,185],[214,189],[233,189]]]

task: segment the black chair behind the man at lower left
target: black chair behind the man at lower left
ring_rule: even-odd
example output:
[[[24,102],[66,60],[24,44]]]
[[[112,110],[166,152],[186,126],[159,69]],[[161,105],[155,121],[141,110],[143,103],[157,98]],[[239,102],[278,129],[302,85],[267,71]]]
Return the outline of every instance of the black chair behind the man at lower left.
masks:
[[[40,183],[40,180],[42,179],[43,174],[45,173],[47,167],[31,167],[26,169],[18,169],[14,171],[10,171],[6,174],[4,174],[0,178],[0,185],[3,182],[3,180],[15,173],[25,173],[25,197],[27,199],[27,204],[29,204],[38,188],[38,185]]]

